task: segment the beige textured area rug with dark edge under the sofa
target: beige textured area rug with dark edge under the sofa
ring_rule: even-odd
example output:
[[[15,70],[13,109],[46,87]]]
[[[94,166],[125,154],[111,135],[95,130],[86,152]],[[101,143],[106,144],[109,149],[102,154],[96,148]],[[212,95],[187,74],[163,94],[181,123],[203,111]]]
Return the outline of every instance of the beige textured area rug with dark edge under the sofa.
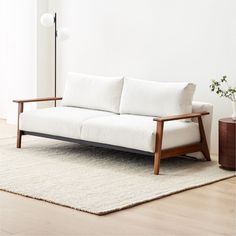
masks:
[[[23,148],[0,139],[0,189],[77,210],[106,214],[229,178],[217,161],[153,158],[30,136]]]

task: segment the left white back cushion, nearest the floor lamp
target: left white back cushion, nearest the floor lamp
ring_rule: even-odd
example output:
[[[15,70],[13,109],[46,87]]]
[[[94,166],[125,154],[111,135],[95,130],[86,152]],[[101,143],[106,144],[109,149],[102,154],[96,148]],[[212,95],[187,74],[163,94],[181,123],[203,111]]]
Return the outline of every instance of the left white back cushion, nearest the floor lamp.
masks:
[[[123,77],[69,73],[62,105],[119,112]]]

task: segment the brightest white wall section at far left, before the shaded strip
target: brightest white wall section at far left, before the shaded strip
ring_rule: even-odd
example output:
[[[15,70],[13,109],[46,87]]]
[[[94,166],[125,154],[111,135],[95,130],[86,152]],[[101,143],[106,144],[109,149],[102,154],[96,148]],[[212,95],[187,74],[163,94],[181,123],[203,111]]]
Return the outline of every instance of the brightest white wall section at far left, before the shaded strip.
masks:
[[[0,29],[0,117],[15,123],[12,100],[36,96],[36,0],[1,0]]]

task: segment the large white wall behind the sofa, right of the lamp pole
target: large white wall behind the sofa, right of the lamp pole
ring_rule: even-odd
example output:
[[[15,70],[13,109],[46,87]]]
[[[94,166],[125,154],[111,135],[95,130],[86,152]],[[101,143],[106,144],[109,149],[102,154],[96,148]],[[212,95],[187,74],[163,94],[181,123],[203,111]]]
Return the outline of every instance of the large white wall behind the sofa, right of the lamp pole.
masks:
[[[217,122],[231,104],[209,90],[211,79],[236,83],[235,0],[57,0],[59,25],[71,38],[59,44],[59,94],[68,71],[130,75],[157,81],[192,81],[195,100],[214,104]]]

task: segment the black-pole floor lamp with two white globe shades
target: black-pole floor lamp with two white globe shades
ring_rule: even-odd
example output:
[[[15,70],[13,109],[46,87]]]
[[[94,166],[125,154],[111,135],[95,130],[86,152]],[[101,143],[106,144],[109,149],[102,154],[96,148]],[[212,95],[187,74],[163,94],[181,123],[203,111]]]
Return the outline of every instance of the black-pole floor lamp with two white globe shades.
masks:
[[[57,39],[63,41],[69,38],[68,30],[65,28],[57,29],[57,13],[44,13],[41,16],[41,24],[45,27],[52,27],[54,25],[54,97],[57,96]],[[56,101],[54,106],[56,106]]]

